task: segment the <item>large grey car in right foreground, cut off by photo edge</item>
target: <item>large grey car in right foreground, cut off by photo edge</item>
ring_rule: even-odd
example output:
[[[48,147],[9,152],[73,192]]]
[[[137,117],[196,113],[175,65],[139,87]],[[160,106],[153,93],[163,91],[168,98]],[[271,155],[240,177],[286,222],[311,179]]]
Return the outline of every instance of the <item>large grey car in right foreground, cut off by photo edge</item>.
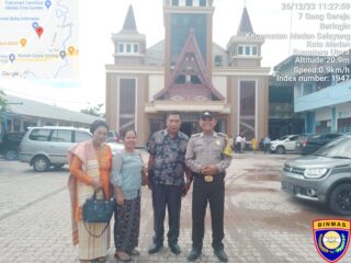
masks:
[[[338,137],[313,155],[287,160],[282,190],[328,205],[339,215],[351,215],[351,135]]]

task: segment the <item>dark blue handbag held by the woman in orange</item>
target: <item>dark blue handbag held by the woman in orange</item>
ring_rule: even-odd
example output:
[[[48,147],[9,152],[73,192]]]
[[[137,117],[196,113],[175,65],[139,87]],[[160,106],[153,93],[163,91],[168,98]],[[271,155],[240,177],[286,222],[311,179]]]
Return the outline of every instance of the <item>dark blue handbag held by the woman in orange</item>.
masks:
[[[98,199],[97,191],[94,191],[93,195],[90,198],[86,199],[82,206],[82,218],[84,227],[87,231],[95,238],[100,238],[106,230],[115,208],[114,198],[106,199],[106,195],[103,188],[102,192],[104,199]],[[106,226],[100,235],[93,235],[88,230],[86,222],[105,222]]]

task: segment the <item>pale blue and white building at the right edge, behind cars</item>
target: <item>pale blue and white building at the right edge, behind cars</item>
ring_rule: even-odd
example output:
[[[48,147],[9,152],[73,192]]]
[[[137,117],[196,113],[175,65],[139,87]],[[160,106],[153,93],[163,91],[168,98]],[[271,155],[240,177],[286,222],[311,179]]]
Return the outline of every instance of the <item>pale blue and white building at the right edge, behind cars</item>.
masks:
[[[296,66],[303,73],[293,72]],[[274,69],[282,82],[295,80],[294,112],[303,116],[305,134],[351,132],[351,49],[333,57],[292,56]]]

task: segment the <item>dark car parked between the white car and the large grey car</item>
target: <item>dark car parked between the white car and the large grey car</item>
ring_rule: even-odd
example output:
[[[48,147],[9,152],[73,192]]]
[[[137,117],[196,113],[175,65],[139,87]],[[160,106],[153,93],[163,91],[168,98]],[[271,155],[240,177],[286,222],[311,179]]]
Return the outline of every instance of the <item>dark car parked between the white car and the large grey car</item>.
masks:
[[[299,147],[304,156],[310,155],[318,150],[321,146],[328,144],[335,138],[340,137],[341,134],[318,134],[318,135],[307,135],[305,139],[301,141]]]

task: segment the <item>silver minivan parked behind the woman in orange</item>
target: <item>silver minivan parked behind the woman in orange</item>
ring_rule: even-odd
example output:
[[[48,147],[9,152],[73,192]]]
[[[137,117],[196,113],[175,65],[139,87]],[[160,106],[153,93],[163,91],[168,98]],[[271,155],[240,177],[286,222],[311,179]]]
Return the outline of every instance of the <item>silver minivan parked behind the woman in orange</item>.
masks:
[[[37,172],[49,167],[61,168],[67,163],[67,149],[75,142],[91,139],[87,129],[46,126],[33,127],[24,135],[20,145],[20,160],[30,163]]]

